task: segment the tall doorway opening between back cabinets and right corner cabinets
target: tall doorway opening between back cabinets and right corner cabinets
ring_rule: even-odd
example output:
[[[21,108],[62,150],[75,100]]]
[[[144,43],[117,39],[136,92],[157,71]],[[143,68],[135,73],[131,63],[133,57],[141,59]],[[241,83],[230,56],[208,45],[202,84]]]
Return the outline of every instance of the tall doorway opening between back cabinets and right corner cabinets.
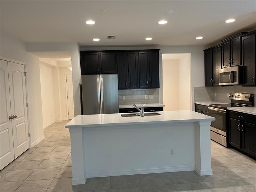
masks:
[[[163,100],[165,111],[192,109],[190,53],[163,54]]]

